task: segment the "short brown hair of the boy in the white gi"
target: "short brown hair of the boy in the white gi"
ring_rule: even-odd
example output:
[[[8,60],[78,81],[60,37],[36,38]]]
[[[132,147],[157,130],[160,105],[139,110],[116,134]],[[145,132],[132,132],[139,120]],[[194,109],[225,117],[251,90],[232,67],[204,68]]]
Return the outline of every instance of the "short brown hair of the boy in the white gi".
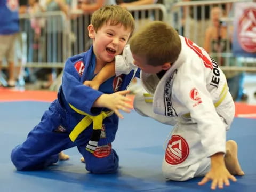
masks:
[[[181,51],[179,34],[162,21],[153,21],[141,28],[130,39],[131,52],[146,57],[148,65],[174,63]]]

